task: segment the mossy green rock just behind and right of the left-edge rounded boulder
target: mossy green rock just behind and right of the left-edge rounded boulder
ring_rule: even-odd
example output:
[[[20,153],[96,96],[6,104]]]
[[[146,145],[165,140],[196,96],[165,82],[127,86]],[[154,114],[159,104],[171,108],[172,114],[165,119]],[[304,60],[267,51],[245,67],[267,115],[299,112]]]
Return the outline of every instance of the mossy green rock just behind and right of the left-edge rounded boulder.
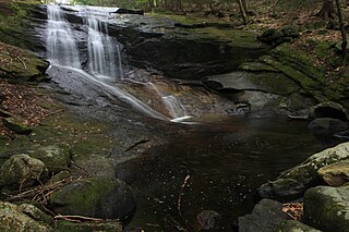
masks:
[[[39,147],[28,152],[33,158],[41,160],[49,172],[58,173],[69,168],[70,147],[67,144]]]

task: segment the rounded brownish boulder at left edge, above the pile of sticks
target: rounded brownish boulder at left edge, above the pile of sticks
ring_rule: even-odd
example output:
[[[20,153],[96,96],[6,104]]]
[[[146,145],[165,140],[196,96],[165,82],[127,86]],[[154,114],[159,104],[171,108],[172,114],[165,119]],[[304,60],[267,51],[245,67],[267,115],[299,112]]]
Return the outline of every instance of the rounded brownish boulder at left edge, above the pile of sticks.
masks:
[[[26,154],[14,155],[0,168],[0,186],[5,188],[31,187],[47,178],[47,169],[41,160]]]

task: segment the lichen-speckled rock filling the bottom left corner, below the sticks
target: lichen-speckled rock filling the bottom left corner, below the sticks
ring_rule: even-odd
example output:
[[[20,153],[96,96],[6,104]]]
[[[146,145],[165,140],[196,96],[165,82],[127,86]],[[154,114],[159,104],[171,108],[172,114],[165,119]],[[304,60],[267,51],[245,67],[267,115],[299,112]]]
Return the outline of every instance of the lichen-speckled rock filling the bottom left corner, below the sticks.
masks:
[[[11,203],[0,202],[0,231],[50,232],[50,227],[41,224]]]

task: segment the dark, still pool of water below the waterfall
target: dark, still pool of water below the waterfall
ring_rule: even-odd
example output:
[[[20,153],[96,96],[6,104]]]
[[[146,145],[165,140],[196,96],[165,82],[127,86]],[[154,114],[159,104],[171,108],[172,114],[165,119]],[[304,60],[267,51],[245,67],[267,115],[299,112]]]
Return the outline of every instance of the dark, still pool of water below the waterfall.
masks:
[[[300,121],[230,119],[190,125],[179,139],[117,167],[118,178],[131,184],[137,198],[128,230],[161,231],[166,215],[178,218],[182,191],[181,219],[193,224],[198,212],[210,209],[221,215],[222,230],[232,231],[231,223],[252,210],[256,187],[324,147]]]

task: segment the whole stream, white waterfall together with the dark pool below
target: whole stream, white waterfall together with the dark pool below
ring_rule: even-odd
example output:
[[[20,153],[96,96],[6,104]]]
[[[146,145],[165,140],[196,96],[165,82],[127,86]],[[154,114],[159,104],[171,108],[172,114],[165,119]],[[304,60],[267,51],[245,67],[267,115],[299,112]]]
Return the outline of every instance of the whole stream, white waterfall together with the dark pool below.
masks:
[[[132,186],[137,200],[137,210],[127,230],[163,231],[169,220],[186,227],[185,220],[195,221],[202,210],[215,210],[221,216],[222,230],[231,231],[237,218],[252,210],[254,191],[261,184],[326,147],[310,135],[305,121],[212,112],[209,120],[192,117],[185,108],[191,97],[184,106],[177,97],[179,94],[165,93],[164,89],[171,88],[160,89],[156,85],[159,82],[127,78],[120,46],[108,35],[104,21],[99,21],[101,14],[112,10],[70,8],[84,19],[84,30],[71,26],[60,7],[47,7],[43,37],[52,82],[92,105],[112,106],[119,111],[133,109],[145,122],[152,118],[149,123],[156,119],[164,126],[183,120],[185,123],[171,126],[174,131],[176,126],[184,129],[176,137],[140,149],[137,158],[116,167],[117,178]],[[81,34],[84,40],[76,41]],[[85,49],[79,42],[84,42]],[[132,90],[134,86],[139,88]],[[153,98],[146,99],[140,94],[142,90]],[[206,95],[207,99],[213,96]],[[209,108],[208,102],[203,106]]]

